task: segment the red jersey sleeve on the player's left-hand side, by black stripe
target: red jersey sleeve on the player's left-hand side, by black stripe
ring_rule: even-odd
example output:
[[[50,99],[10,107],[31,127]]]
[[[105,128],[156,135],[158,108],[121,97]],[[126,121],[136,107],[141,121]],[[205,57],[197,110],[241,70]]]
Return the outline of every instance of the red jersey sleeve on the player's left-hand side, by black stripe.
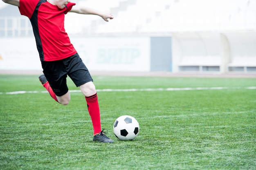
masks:
[[[20,14],[31,18],[39,0],[20,0]]]

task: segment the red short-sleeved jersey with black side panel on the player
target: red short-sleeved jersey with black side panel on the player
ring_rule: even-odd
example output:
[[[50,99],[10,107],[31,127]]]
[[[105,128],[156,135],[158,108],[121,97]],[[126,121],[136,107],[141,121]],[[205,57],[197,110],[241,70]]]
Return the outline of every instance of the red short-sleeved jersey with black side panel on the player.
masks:
[[[64,29],[65,14],[74,5],[69,2],[59,9],[47,0],[20,0],[20,14],[31,21],[41,61],[61,60],[76,53]]]

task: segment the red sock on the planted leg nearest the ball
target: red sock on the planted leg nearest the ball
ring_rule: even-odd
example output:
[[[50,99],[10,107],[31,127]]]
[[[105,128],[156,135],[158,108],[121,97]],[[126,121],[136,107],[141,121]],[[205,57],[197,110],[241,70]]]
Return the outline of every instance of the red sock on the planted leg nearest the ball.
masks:
[[[94,129],[94,135],[101,132],[101,118],[99,111],[98,96],[95,93],[92,96],[85,97],[89,114],[92,119],[92,126]]]

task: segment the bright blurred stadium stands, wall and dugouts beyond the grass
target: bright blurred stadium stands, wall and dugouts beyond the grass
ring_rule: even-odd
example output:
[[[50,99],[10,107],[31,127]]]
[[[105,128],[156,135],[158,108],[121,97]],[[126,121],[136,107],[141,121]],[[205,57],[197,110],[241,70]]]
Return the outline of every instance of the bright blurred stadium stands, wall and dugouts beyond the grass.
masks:
[[[65,28],[95,72],[256,73],[256,0],[73,0]],[[29,20],[0,2],[0,71],[41,71]]]

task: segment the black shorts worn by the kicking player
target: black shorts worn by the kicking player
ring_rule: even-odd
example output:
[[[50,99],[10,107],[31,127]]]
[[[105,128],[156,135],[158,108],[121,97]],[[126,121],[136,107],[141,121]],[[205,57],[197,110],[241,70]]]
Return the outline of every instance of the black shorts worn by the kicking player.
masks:
[[[93,81],[78,53],[63,60],[44,61],[41,63],[43,73],[57,96],[65,95],[68,91],[67,75],[72,79],[76,87]]]

